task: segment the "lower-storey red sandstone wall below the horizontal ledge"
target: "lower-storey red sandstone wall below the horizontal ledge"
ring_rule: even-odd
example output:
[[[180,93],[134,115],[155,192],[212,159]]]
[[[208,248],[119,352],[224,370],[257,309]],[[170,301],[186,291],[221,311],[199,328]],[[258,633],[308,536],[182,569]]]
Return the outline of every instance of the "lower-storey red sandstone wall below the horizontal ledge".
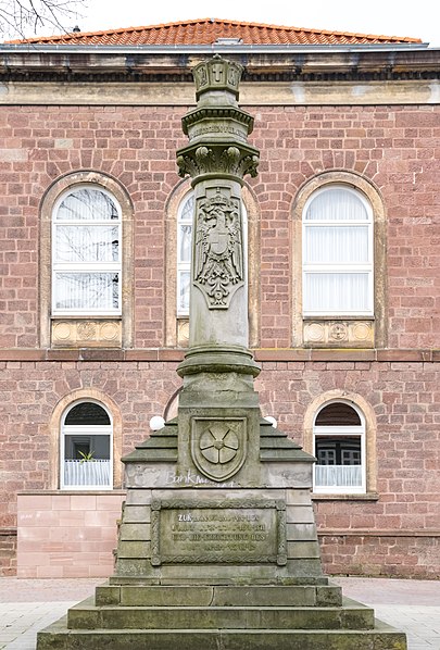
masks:
[[[59,399],[78,387],[102,390],[121,411],[127,451],[146,437],[150,417],[163,412],[179,384],[175,364],[146,362],[83,362],[78,367],[67,362],[8,362],[1,377],[5,401],[0,420],[0,527],[15,526],[16,491],[50,486],[48,421]],[[438,575],[439,386],[439,363],[263,364],[257,379],[262,410],[276,415],[279,427],[299,441],[307,405],[327,390],[355,391],[376,413],[378,500],[316,502],[329,573]],[[400,537],[404,530],[416,537]]]

